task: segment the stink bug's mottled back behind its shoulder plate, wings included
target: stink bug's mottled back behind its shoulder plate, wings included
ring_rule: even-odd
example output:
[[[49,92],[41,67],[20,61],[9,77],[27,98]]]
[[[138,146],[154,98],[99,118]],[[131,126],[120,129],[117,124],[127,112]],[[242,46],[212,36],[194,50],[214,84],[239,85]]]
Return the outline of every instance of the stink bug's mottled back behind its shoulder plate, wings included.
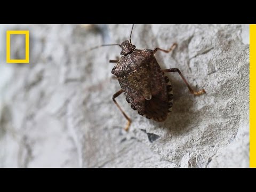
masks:
[[[166,78],[153,56],[139,69],[118,77],[118,81],[132,109],[138,110],[140,115],[162,122],[167,118],[168,108],[172,106],[172,103],[169,103],[172,97],[170,98],[168,93],[171,91],[171,85],[167,87],[166,82],[169,82],[169,79],[167,81]],[[151,95],[151,99],[146,100],[145,95]]]

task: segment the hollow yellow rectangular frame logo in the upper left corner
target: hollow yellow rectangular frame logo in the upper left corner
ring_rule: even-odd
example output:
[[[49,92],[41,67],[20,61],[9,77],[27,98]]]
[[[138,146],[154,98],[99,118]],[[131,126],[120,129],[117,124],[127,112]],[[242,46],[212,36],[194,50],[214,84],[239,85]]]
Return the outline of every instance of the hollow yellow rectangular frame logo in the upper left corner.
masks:
[[[11,58],[11,35],[25,35],[25,59]],[[7,30],[6,31],[6,63],[29,63],[29,31]]]

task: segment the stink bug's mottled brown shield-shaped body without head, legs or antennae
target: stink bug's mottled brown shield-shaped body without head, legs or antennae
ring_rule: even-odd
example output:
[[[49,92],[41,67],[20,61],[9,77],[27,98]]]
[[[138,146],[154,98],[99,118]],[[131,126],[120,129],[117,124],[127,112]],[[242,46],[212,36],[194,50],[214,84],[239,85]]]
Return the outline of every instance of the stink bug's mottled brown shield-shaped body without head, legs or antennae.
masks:
[[[113,68],[126,101],[138,114],[165,121],[172,107],[172,87],[159,67],[153,50],[134,50]]]

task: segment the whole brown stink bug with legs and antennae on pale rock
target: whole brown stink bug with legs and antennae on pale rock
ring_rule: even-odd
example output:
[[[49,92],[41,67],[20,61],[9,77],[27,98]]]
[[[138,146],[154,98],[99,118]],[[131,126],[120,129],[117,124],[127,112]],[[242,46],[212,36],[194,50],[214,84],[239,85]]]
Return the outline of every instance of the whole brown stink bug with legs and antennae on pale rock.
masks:
[[[133,27],[134,25],[132,25],[132,30]],[[125,126],[126,131],[129,130],[131,125],[131,118],[124,113],[123,109],[115,100],[123,92],[126,101],[131,103],[132,109],[138,110],[139,115],[145,115],[146,118],[153,119],[157,122],[165,121],[173,106],[172,86],[165,73],[178,72],[190,93],[194,95],[205,93],[204,89],[198,92],[191,89],[179,69],[161,69],[158,65],[154,54],[158,50],[169,53],[177,46],[176,43],[169,50],[163,50],[158,47],[154,50],[138,50],[131,41],[132,30],[130,41],[126,40],[121,45],[111,44],[121,47],[122,57],[119,60],[110,60],[111,63],[117,63],[112,70],[112,74],[118,79],[121,90],[113,95],[113,101],[128,121]]]

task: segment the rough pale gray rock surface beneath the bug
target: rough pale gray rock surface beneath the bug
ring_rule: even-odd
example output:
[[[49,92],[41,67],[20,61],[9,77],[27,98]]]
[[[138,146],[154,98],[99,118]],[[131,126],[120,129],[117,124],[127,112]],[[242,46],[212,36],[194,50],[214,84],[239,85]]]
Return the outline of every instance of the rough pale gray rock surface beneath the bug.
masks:
[[[5,30],[30,30],[30,63],[5,63]],[[156,54],[168,74],[172,113],[163,123],[117,102],[118,46],[131,25],[1,25],[0,167],[249,167],[249,25],[135,25],[138,49]],[[12,54],[22,57],[21,40]]]

